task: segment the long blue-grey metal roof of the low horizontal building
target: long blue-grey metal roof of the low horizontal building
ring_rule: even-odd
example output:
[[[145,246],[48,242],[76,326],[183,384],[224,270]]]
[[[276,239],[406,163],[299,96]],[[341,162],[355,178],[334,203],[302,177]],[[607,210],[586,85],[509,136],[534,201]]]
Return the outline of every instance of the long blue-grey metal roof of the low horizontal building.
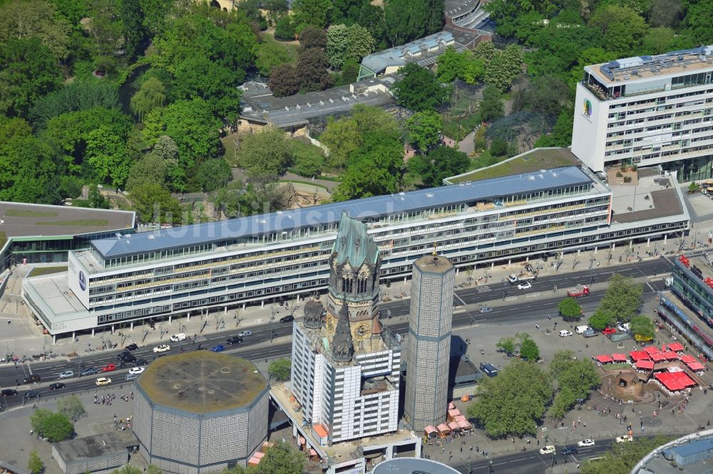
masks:
[[[363,220],[450,204],[475,203],[513,194],[590,184],[591,182],[592,179],[578,167],[560,167],[387,196],[374,196],[303,209],[277,211],[272,214],[240,217],[227,221],[140,232],[133,236],[104,238],[92,241],[92,246],[104,258],[116,258],[170,248],[198,246],[241,236],[262,235],[290,231],[294,228],[337,223],[343,212],[347,212],[352,218]]]

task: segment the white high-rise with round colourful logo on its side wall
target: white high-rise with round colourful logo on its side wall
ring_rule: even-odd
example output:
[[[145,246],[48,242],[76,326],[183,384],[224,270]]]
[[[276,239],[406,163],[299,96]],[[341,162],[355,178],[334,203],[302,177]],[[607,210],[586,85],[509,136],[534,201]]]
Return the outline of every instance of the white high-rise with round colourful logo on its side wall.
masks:
[[[713,177],[713,46],[588,65],[577,85],[572,152],[596,172],[661,165]]]

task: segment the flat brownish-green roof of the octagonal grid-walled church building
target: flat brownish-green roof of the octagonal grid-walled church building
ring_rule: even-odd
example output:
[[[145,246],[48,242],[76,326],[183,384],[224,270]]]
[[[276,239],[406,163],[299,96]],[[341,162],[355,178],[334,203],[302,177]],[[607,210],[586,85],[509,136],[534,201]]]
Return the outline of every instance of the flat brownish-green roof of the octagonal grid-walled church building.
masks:
[[[194,414],[250,406],[267,388],[252,362],[211,351],[160,357],[137,382],[154,404]]]

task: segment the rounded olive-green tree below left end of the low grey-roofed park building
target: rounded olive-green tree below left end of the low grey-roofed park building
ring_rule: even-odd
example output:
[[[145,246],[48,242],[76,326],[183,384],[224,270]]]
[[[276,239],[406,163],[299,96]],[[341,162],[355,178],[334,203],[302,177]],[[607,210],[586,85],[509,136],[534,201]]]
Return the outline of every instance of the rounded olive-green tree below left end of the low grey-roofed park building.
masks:
[[[242,135],[237,148],[237,162],[250,176],[277,176],[292,164],[292,144],[277,128]]]

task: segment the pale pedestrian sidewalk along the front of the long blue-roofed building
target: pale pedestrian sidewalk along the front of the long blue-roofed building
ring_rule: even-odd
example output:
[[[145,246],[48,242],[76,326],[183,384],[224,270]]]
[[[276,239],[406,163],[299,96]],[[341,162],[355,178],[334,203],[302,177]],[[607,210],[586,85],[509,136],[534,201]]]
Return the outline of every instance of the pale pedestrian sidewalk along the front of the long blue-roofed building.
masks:
[[[647,251],[668,254],[677,251],[678,246],[679,238],[669,238],[665,246],[662,241],[651,242],[648,247],[645,243],[637,244],[631,250],[625,245],[616,246],[611,253],[611,258],[609,258],[610,253],[607,249],[600,248],[596,253],[570,253],[565,254],[561,259],[549,258],[547,262],[530,260],[530,264],[535,268],[540,268],[540,276],[566,275],[571,271],[587,270],[591,268],[590,265],[592,264],[597,267],[608,265],[612,270],[615,270],[620,264],[620,260],[621,263],[627,263],[627,260],[634,261],[637,258],[637,254],[642,259],[648,260],[655,257],[647,256]],[[513,261],[511,265],[476,265],[472,273],[458,270],[456,285],[460,288],[500,285],[503,284],[509,274],[523,270],[524,265],[524,262]],[[304,304],[303,300],[298,301],[294,297],[287,301],[287,307],[277,304],[265,304],[264,306],[247,306],[245,310],[239,307],[227,312],[218,310],[210,312],[208,315],[193,315],[190,320],[185,316],[173,317],[170,323],[168,320],[163,323],[155,323],[155,329],[151,329],[148,325],[135,325],[133,330],[130,330],[130,325],[126,323],[123,328],[120,325],[116,325],[113,334],[111,333],[111,328],[107,327],[101,332],[96,332],[93,337],[91,335],[79,335],[77,342],[71,341],[70,337],[62,337],[58,339],[56,344],[52,344],[51,336],[41,334],[41,326],[37,326],[32,322],[27,308],[21,303],[21,278],[24,278],[32,267],[33,265],[25,265],[15,268],[13,275],[9,278],[4,294],[0,297],[0,318],[11,320],[10,325],[2,326],[0,353],[11,352],[18,356],[23,354],[31,356],[31,354],[41,354],[51,349],[56,354],[69,354],[71,352],[83,354],[88,347],[101,349],[102,347],[107,347],[108,344],[118,344],[118,347],[123,347],[132,339],[140,346],[156,345],[160,342],[168,341],[170,335],[178,332],[185,332],[186,335],[191,337],[195,333],[199,335],[199,341],[200,335],[212,335],[216,332],[225,332],[227,337],[250,327],[267,324],[270,322],[271,317],[275,324],[278,325],[279,318],[286,315],[293,314],[296,317],[301,317],[302,305]],[[568,284],[576,285],[577,283],[588,282],[572,281]],[[595,282],[594,288],[602,284],[604,282]],[[560,289],[564,290],[564,288]],[[386,285],[381,285],[381,298],[384,301],[408,300],[410,293],[411,280],[407,278],[405,281],[391,283],[389,288]],[[491,293],[493,301],[501,300],[499,291],[492,291]],[[405,294],[405,297],[399,298],[399,294]],[[534,297],[539,296],[535,295]],[[407,312],[404,312],[404,315],[396,315],[396,317],[406,317]]]

